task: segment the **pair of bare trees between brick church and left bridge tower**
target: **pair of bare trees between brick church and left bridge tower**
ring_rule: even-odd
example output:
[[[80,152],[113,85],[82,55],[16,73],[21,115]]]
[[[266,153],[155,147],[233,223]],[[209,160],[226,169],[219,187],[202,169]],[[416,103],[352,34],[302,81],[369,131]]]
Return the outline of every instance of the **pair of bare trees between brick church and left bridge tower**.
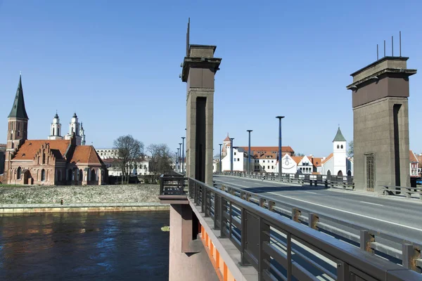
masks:
[[[141,141],[131,135],[120,136],[113,142],[117,150],[117,162],[122,171],[122,181],[129,183],[131,172],[137,167],[139,162],[149,156],[148,171],[151,174],[151,182],[156,183],[161,174],[166,174],[172,170],[174,156],[170,148],[165,143],[151,144],[144,149]]]

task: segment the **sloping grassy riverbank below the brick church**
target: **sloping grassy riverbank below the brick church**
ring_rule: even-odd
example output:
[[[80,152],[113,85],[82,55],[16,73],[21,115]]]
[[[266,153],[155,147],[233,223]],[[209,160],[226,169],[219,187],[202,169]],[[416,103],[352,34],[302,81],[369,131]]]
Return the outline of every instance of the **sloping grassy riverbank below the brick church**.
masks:
[[[0,204],[134,203],[160,202],[160,185],[0,185]]]

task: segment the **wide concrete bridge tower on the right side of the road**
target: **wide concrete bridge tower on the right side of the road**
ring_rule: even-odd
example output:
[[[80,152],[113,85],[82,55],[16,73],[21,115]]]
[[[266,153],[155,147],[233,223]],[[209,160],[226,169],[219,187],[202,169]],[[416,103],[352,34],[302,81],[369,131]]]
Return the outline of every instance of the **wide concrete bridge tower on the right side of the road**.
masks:
[[[357,190],[410,186],[408,59],[385,56],[351,74]]]

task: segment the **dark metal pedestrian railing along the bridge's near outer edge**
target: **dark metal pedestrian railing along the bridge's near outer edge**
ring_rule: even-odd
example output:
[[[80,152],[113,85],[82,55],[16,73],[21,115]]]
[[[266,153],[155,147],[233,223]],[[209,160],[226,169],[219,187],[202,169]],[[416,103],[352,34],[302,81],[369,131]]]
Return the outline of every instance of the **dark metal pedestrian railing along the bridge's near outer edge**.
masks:
[[[276,214],[271,204],[264,209],[262,200],[260,207],[193,178],[188,197],[212,218],[220,236],[236,245],[241,263],[253,266],[259,280],[422,280],[412,270]]]

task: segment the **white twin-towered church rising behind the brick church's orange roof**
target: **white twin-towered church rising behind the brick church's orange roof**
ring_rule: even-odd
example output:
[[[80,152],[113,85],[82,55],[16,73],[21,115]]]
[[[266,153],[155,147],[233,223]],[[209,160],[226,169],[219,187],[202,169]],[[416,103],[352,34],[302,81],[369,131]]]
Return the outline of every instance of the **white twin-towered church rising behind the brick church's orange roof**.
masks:
[[[58,118],[57,112],[53,118],[53,122],[50,126],[50,135],[47,137],[49,140],[70,140],[72,138],[72,134],[75,133],[76,136],[76,145],[85,145],[85,130],[82,123],[79,124],[77,120],[76,113],[73,115],[70,123],[69,123],[69,132],[64,137],[61,136],[62,128],[60,124],[60,119]]]

